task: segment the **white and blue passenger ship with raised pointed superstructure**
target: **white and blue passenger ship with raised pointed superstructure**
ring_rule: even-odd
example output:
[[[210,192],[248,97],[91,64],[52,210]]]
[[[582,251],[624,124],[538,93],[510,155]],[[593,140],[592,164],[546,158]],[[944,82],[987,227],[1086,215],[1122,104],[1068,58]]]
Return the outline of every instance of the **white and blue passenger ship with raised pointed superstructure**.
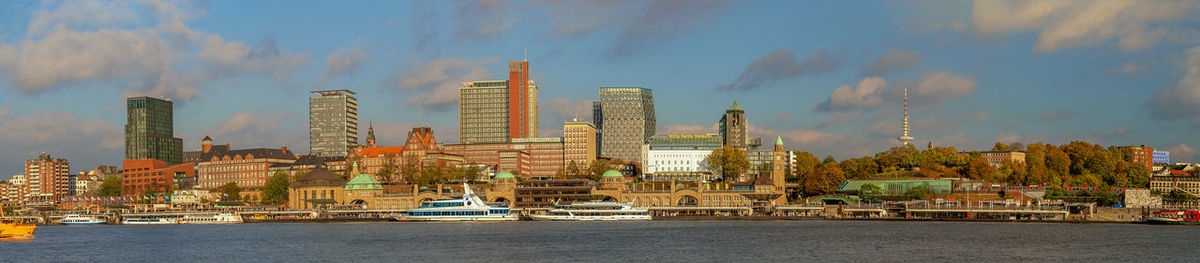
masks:
[[[457,199],[426,201],[420,208],[408,209],[400,221],[514,221],[518,216],[508,207],[487,205],[470,186],[462,184],[463,195]]]

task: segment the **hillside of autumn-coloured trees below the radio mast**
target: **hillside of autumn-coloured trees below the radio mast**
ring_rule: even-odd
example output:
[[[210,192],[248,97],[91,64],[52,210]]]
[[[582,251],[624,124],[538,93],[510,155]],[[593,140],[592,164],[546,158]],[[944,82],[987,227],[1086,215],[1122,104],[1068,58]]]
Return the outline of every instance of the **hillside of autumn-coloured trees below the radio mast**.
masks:
[[[810,153],[797,153],[797,167],[788,181],[798,183],[805,195],[836,190],[844,179],[965,178],[988,184],[1100,187],[1148,187],[1151,171],[1133,163],[1127,151],[1087,142],[1063,145],[996,143],[994,151],[1025,151],[1025,163],[1004,162],[998,168],[979,151],[962,153],[953,147],[918,150],[895,147],[875,154],[817,161]]]

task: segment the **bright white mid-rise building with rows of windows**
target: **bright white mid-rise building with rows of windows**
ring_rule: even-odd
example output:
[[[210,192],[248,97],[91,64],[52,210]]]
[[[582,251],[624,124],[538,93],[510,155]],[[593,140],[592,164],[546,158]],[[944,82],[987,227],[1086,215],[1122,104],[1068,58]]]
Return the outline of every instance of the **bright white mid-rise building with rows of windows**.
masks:
[[[659,135],[647,141],[646,163],[642,172],[648,181],[714,180],[704,159],[720,149],[719,135]]]

